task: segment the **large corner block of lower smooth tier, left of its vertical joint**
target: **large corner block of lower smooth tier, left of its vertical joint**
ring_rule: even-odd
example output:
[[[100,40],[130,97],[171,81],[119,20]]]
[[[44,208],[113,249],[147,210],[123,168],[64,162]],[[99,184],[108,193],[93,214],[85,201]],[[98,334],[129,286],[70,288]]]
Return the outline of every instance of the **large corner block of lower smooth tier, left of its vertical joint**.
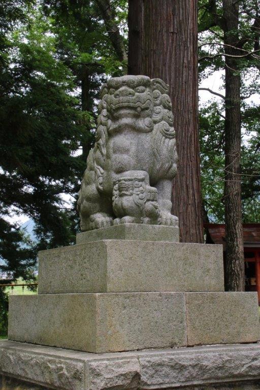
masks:
[[[90,352],[186,345],[184,293],[12,296],[11,340]]]

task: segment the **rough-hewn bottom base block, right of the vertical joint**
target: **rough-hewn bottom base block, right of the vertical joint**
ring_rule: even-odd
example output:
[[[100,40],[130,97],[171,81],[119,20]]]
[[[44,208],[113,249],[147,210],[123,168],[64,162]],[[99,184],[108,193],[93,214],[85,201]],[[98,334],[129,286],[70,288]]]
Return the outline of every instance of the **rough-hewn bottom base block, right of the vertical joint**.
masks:
[[[169,388],[260,378],[259,345],[178,348],[140,354],[140,388]]]

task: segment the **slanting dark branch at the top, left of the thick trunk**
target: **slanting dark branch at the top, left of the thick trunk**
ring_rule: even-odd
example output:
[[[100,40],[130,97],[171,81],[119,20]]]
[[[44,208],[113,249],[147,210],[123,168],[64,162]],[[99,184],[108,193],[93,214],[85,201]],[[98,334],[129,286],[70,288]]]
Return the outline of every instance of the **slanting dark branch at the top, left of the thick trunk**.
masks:
[[[124,47],[123,38],[120,35],[119,28],[115,21],[115,15],[112,11],[110,0],[96,0],[98,4],[105,26],[107,29],[108,36],[115,49],[115,52],[120,61],[127,63],[127,54]]]

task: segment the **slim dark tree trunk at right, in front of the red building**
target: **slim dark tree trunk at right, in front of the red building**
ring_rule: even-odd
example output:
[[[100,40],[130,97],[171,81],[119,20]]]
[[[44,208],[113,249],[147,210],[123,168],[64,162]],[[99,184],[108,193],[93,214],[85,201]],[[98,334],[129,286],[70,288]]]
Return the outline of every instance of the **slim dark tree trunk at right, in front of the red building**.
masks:
[[[244,250],[241,207],[241,121],[238,59],[239,4],[223,0],[225,46],[225,289],[244,290]],[[232,47],[233,46],[233,47]]]

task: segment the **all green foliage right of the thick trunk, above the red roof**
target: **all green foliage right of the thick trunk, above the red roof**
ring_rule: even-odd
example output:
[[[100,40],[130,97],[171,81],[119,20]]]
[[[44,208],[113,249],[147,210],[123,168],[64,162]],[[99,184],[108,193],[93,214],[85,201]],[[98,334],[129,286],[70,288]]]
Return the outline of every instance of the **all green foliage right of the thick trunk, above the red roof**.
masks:
[[[241,1],[239,13],[239,55],[253,53],[259,44],[257,2]],[[222,1],[199,0],[199,79],[223,71]],[[258,53],[260,54],[260,53]],[[238,59],[241,76],[242,156],[241,183],[243,222],[260,222],[260,105],[248,98],[260,93],[260,57],[257,53]],[[224,83],[222,85],[224,88]],[[218,91],[216,91],[218,92]],[[213,95],[212,95],[213,96]],[[246,103],[247,102],[247,103]],[[200,109],[200,148],[203,205],[212,222],[224,222],[224,100],[209,101]]]

